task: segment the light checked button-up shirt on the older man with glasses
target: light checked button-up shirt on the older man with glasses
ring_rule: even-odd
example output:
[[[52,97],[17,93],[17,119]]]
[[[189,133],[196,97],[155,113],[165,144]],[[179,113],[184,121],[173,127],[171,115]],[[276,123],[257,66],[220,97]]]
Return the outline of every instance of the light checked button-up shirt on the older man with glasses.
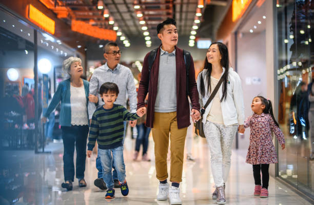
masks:
[[[99,68],[96,68],[89,82],[89,93],[98,96],[97,107],[103,106],[104,102],[99,94],[100,87],[106,83],[115,83],[119,88],[119,95],[116,98],[115,104],[120,104],[126,107],[127,95],[130,100],[130,110],[136,112],[136,88],[134,77],[131,70],[121,64],[118,64],[115,69],[111,70],[107,63]],[[97,109],[94,103],[88,102],[88,116],[92,118]]]

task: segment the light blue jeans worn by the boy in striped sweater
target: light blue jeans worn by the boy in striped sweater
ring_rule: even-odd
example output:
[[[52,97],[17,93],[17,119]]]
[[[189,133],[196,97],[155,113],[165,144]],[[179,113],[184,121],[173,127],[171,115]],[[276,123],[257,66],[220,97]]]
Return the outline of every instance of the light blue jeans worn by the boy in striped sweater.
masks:
[[[112,156],[111,156],[112,153]],[[112,178],[112,164],[114,163],[115,171],[117,173],[117,179],[120,182],[124,182],[125,180],[125,164],[123,159],[123,146],[102,150],[98,149],[98,154],[101,159],[102,167],[103,167],[103,179],[106,183],[108,189],[112,189],[114,186],[113,178]]]

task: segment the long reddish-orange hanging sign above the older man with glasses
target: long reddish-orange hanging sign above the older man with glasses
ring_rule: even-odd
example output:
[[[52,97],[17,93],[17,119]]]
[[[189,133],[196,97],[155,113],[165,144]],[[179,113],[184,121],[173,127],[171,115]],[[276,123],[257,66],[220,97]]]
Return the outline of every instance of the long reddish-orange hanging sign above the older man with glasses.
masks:
[[[113,42],[115,42],[116,40],[116,32],[114,30],[101,29],[96,26],[91,26],[80,20],[72,20],[71,29],[72,31],[83,33],[85,35],[89,35],[103,40],[111,40]]]

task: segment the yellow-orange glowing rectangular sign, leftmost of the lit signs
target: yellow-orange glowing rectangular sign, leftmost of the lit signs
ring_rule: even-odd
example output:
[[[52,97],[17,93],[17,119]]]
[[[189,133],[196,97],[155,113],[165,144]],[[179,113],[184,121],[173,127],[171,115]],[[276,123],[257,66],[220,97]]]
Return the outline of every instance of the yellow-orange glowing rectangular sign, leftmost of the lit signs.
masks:
[[[28,17],[31,19],[31,21],[42,28],[43,30],[54,34],[54,25],[55,22],[48,16],[46,16],[44,13],[42,13],[40,10],[36,9],[33,5],[29,5],[29,12]]]

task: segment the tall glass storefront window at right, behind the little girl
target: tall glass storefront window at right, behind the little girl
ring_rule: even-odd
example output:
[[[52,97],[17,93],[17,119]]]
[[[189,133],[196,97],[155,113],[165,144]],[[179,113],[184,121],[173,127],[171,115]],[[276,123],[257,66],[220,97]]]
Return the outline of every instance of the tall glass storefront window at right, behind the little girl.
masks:
[[[278,175],[313,198],[313,1],[277,1],[278,120],[286,138]]]

